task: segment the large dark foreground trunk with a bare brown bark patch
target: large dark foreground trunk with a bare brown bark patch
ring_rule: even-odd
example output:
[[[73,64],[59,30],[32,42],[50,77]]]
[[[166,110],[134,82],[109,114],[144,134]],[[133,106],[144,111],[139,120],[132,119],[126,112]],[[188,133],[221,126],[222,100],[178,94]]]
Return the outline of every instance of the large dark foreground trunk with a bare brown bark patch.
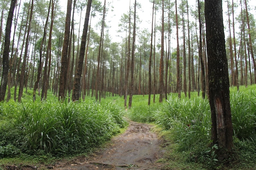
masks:
[[[219,161],[228,158],[233,148],[233,127],[229,98],[229,72],[225,49],[222,0],[205,0],[209,103],[213,144],[218,144]]]

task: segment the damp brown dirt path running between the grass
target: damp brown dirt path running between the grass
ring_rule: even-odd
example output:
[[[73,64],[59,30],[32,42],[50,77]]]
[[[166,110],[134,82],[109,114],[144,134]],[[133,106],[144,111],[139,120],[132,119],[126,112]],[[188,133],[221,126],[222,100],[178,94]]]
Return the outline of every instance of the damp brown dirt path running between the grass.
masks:
[[[148,124],[130,122],[124,134],[114,137],[110,146],[89,158],[79,158],[65,164],[56,163],[56,170],[159,170],[156,163],[163,155],[160,140]],[[51,167],[49,167],[51,168]]]

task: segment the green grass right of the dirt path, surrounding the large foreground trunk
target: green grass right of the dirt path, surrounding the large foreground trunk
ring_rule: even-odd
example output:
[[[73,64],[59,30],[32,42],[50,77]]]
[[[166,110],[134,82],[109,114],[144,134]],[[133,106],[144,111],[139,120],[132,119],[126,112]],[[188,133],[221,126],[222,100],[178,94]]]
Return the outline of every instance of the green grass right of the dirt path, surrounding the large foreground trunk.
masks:
[[[147,106],[143,102],[130,110],[135,121],[153,121],[163,129],[169,143],[166,169],[256,169],[256,85],[230,88],[231,113],[234,128],[234,156],[231,166],[219,163],[211,146],[211,110],[208,100],[193,93],[191,99],[171,95],[162,104]],[[141,97],[142,98],[142,97]],[[242,165],[242,166],[241,166]]]

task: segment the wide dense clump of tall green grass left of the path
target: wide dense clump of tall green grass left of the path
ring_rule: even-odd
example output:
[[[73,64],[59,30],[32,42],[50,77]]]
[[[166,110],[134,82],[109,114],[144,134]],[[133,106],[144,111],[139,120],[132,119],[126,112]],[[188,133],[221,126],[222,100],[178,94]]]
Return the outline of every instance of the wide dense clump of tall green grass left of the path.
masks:
[[[6,105],[1,103],[2,108]],[[1,120],[0,157],[20,152],[40,155],[43,151],[56,156],[83,153],[109,140],[127,124],[121,108],[111,103],[44,101],[17,103],[11,114],[9,109],[2,112],[9,118]]]

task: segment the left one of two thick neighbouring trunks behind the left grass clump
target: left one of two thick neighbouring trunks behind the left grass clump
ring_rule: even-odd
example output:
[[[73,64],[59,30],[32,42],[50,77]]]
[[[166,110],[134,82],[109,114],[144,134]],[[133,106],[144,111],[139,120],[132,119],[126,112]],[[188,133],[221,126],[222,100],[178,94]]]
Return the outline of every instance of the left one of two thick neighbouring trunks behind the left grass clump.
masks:
[[[58,98],[63,101],[65,99],[65,90],[67,82],[67,50],[68,43],[70,39],[70,20],[71,20],[71,11],[72,11],[72,0],[67,0],[67,14],[65,21],[65,33],[64,33],[64,42],[61,55],[61,73],[60,73],[60,86]]]

